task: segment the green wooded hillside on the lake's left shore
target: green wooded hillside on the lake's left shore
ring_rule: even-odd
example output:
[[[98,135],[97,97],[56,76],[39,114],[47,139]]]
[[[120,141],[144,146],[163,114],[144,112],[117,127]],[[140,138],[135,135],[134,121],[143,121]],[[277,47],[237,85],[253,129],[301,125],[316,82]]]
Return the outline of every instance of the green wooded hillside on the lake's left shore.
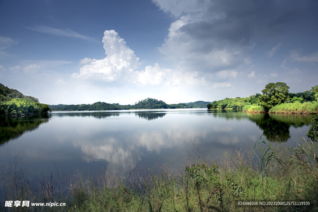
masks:
[[[0,116],[45,114],[48,111],[50,111],[49,106],[39,103],[37,98],[25,96],[0,83]]]

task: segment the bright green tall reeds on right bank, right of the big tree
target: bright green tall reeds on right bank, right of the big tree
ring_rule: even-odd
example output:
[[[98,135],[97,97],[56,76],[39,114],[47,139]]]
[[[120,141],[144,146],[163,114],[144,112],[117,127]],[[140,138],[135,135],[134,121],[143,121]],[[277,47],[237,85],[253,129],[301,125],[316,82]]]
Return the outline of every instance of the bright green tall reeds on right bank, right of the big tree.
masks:
[[[294,102],[294,103],[282,103],[280,105],[273,106],[269,113],[304,113],[304,114],[316,114],[318,113],[318,102]]]

